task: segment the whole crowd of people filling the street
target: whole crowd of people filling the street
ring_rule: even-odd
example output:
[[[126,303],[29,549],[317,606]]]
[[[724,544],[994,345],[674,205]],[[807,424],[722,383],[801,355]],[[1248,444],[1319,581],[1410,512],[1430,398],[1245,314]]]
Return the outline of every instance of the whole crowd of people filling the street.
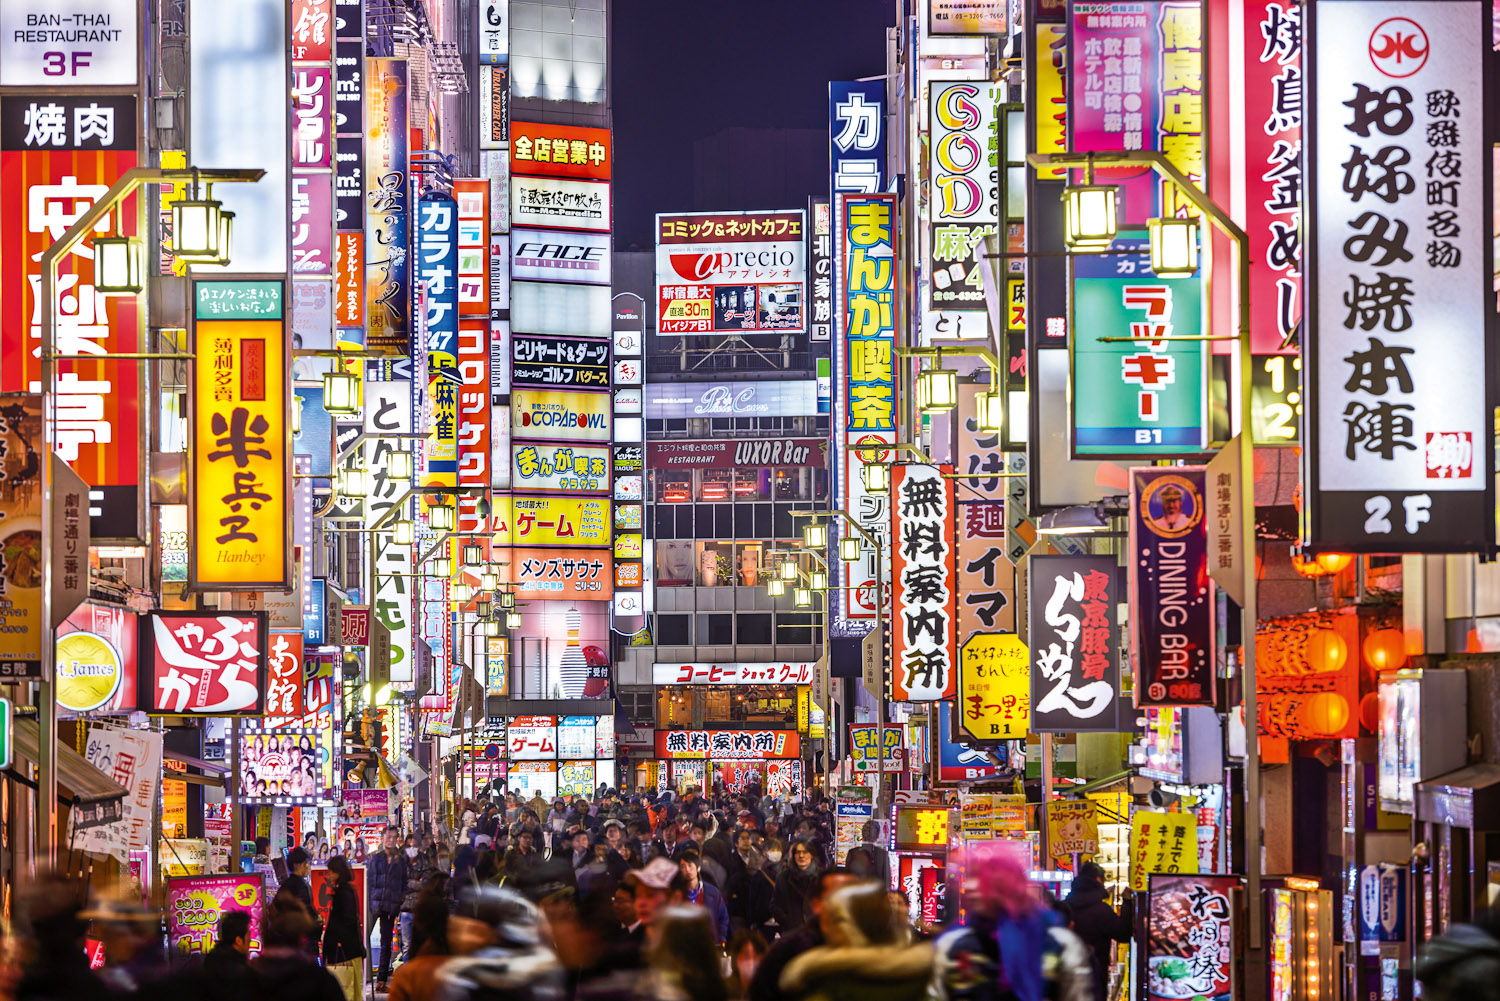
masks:
[[[392,827],[364,860],[370,927],[345,855],[320,917],[310,852],[285,854],[260,921],[219,918],[218,944],[168,962],[154,924],[96,912],[40,881],[15,1001],[1095,1001],[1128,917],[1080,914],[1029,879],[1024,842],[952,852],[946,927],[914,926],[874,822],[838,861],[832,804],[744,795],[464,801],[453,828]],[[1096,882],[1089,866],[1078,884]],[[962,903],[962,906],[958,906]],[[1100,912],[1102,908],[1104,914]],[[962,915],[962,917],[960,917]],[[92,924],[90,924],[92,921]],[[122,930],[122,924],[129,924]],[[1070,930],[1076,924],[1080,933]],[[82,938],[104,941],[90,971]],[[374,932],[374,933],[372,933]],[[154,935],[154,944],[153,944]],[[1092,941],[1090,941],[1092,939]],[[375,945],[378,942],[378,947]],[[372,954],[366,956],[366,951]],[[250,953],[258,954],[250,959]],[[369,969],[372,981],[364,980]]]

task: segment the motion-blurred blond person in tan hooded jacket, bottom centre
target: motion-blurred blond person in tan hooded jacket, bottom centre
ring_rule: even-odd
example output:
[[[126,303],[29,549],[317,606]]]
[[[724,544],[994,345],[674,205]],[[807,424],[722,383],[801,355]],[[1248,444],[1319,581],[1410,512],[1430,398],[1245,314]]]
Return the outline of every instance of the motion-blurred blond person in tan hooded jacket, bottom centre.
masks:
[[[828,894],[818,915],[824,944],[782,971],[788,996],[824,1001],[921,1001],[933,969],[930,942],[898,935],[886,888],[862,879]]]

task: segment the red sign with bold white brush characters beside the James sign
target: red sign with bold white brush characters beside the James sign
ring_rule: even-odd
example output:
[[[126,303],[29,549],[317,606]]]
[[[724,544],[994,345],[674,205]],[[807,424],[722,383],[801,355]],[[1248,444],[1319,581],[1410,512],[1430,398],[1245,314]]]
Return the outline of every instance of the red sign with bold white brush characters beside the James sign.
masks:
[[[266,623],[264,612],[152,612],[141,630],[141,707],[166,716],[260,716]]]

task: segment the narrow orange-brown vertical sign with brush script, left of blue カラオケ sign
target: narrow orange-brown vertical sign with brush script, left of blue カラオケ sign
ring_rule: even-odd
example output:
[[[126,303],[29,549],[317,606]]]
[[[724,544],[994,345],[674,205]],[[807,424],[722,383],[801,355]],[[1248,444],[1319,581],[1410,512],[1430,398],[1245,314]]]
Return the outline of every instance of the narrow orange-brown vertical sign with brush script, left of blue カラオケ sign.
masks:
[[[364,63],[364,320],[368,347],[411,350],[411,261],[406,257],[406,62]]]

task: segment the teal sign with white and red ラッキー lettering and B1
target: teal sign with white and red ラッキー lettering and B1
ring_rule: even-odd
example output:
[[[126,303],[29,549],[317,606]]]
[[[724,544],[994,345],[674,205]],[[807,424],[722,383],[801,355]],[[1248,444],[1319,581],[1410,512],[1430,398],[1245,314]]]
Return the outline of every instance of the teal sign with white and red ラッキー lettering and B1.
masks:
[[[1072,453],[1180,456],[1208,443],[1203,281],[1150,273],[1146,240],[1072,258]],[[1106,344],[1100,338],[1143,338]],[[1158,338],[1158,339],[1150,339]]]

